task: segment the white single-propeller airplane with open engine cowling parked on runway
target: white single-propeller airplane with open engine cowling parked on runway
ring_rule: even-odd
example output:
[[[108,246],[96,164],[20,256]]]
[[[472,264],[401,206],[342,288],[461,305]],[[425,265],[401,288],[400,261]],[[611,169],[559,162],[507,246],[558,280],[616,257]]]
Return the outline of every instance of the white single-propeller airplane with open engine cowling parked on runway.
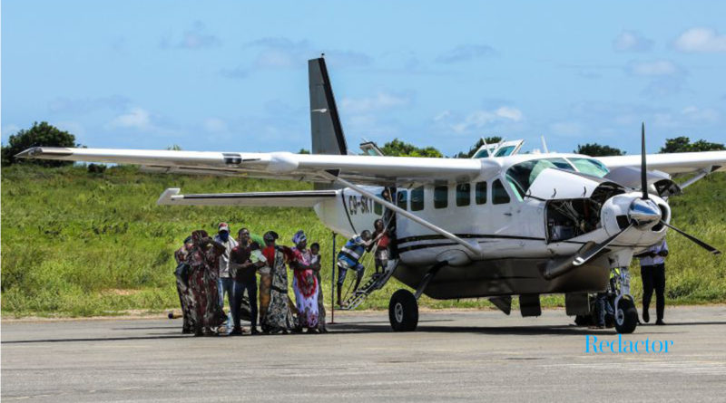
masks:
[[[518,296],[521,314],[538,316],[540,295],[564,293],[567,315],[590,314],[588,295],[606,290],[617,271],[615,329],[629,333],[638,322],[628,273],[634,254],[661,242],[669,229],[720,254],[670,224],[667,199],[726,171],[726,151],[646,155],[643,124],[641,155],[549,152],[544,139],[544,154],[519,154],[521,140],[515,140],[485,143],[473,158],[386,157],[375,144],[353,155],[325,59],[311,59],[308,67],[311,154],[34,147],[17,157],[307,181],[314,190],[182,194],[169,188],[157,204],[312,207],[324,225],[346,236],[388,214],[397,258],[383,281],[392,275],[416,290],[391,296],[394,331],[416,330],[422,294],[486,297],[506,314]],[[680,186],[672,180],[686,174],[693,177]]]

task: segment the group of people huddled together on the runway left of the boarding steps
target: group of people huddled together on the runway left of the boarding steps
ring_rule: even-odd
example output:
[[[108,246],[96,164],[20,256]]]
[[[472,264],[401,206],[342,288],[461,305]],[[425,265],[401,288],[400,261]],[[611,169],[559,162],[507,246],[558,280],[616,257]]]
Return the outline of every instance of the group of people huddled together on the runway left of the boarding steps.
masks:
[[[274,231],[260,237],[247,228],[235,238],[226,223],[213,237],[204,230],[191,233],[174,253],[182,331],[241,335],[240,323],[248,320],[250,333],[258,334],[258,318],[263,333],[326,331],[319,245],[308,246],[302,230],[292,237],[293,247],[278,245],[278,239]],[[288,267],[295,303],[288,294]],[[223,310],[225,295],[231,318]]]

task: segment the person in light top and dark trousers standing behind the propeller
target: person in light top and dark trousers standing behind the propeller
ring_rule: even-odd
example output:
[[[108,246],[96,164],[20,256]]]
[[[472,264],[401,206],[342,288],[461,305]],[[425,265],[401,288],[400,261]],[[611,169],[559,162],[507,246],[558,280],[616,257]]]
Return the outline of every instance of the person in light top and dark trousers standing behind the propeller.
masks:
[[[652,245],[643,254],[641,259],[641,278],[643,279],[643,321],[651,321],[648,307],[651,304],[652,292],[655,290],[655,324],[664,325],[663,311],[665,311],[665,256],[668,255],[668,244],[665,239],[660,244]]]

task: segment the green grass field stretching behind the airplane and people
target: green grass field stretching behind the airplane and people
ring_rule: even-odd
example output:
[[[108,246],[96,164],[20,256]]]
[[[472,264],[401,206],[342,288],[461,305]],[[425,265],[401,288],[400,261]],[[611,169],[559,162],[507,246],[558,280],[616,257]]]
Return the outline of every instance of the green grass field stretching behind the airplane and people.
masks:
[[[22,317],[115,315],[128,310],[161,312],[178,304],[173,251],[192,230],[213,232],[220,221],[232,230],[273,229],[286,245],[298,229],[323,253],[323,292],[330,296],[331,235],[312,209],[156,206],[167,187],[186,193],[308,189],[273,180],[178,177],[114,167],[91,174],[83,167],[2,169],[2,313]],[[717,174],[673,197],[673,225],[726,248],[726,175]],[[338,236],[338,247],[345,239]],[[726,264],[680,235],[668,235],[668,303],[726,302]],[[387,309],[402,284],[390,281],[360,309]],[[641,293],[637,264],[633,291]],[[563,306],[561,295],[544,306]],[[485,308],[486,299],[436,301],[430,308]]]

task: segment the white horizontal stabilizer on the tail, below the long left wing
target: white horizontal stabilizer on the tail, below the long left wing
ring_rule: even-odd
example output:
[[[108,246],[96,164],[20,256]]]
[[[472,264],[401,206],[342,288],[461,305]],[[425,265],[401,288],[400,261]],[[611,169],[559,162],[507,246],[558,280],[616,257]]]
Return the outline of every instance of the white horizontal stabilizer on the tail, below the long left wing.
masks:
[[[181,189],[168,188],[156,201],[157,205],[179,206],[257,206],[312,207],[336,197],[335,190],[298,190],[291,192],[201,193],[180,195]]]

